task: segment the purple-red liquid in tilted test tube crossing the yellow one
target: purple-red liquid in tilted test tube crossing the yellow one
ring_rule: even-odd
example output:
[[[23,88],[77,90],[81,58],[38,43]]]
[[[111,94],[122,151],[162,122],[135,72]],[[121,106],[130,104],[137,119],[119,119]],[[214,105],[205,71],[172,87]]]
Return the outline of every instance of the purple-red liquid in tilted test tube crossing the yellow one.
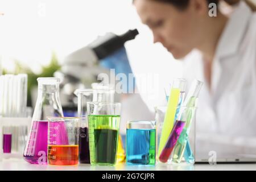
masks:
[[[174,129],[172,130],[166,146],[164,146],[163,151],[161,152],[159,156],[160,162],[166,163],[172,153],[172,150],[174,150],[174,147],[177,143],[177,140],[180,137],[180,134],[183,130],[183,127],[185,126],[185,122],[183,121],[176,121],[174,125]]]

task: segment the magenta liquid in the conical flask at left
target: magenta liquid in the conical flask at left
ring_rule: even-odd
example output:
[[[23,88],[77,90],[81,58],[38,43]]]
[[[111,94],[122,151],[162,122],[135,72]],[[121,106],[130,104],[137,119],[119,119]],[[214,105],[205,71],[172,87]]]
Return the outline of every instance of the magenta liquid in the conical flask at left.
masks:
[[[48,121],[34,121],[23,158],[31,164],[47,164]]]

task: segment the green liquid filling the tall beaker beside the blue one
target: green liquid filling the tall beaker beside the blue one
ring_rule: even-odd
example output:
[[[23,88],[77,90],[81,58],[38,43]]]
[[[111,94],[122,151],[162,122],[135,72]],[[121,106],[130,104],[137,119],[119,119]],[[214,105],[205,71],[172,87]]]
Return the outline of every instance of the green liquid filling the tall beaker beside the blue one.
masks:
[[[117,159],[119,115],[88,115],[90,163],[113,165]]]

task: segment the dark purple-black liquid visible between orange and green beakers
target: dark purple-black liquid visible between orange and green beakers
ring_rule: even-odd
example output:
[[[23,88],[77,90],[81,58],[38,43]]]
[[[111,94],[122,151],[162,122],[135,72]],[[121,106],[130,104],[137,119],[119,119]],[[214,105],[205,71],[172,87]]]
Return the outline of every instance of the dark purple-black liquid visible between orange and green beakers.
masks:
[[[90,164],[88,127],[79,128],[79,162]]]

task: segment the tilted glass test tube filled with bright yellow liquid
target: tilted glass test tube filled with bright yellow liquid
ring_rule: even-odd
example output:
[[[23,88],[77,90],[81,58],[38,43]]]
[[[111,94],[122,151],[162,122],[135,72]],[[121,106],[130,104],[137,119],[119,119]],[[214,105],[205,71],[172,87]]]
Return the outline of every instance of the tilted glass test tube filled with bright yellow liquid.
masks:
[[[172,82],[170,96],[167,103],[166,115],[164,116],[162,134],[160,136],[160,142],[158,146],[158,159],[168,140],[169,135],[171,134],[172,128],[174,127],[177,106],[179,104],[180,98],[184,97],[185,94],[185,84],[186,80],[183,78],[177,78]]]

